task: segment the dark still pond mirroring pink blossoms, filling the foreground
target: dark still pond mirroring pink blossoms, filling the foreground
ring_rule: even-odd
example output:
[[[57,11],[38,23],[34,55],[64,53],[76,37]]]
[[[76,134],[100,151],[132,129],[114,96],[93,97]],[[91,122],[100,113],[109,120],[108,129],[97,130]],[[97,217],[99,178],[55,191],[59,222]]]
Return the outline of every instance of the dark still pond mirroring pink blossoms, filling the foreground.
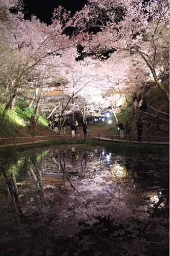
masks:
[[[3,255],[168,255],[168,158],[84,145],[1,159]]]

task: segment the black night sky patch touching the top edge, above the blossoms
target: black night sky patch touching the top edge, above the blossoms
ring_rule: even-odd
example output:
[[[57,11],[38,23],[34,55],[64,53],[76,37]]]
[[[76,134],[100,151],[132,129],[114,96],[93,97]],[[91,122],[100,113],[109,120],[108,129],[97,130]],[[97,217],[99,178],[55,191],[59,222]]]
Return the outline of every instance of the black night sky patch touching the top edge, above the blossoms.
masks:
[[[54,8],[62,5],[67,11],[71,11],[71,15],[81,10],[87,0],[23,0],[25,4],[26,19],[30,19],[30,15],[36,15],[40,21],[47,24],[51,23],[52,12]]]

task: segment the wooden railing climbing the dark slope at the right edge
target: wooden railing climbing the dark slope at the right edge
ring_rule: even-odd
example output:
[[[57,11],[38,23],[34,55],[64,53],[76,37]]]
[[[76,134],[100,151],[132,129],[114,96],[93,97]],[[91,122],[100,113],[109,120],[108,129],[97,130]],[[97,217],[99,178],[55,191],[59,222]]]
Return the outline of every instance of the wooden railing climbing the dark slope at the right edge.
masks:
[[[159,111],[155,108],[153,108],[150,105],[147,105],[147,110],[142,111],[139,108],[135,109],[133,107],[133,117],[136,113],[137,118],[140,117],[140,115],[144,115],[144,122],[148,124],[148,126],[153,125],[156,127],[156,130],[162,130],[162,131],[169,131],[169,113]]]

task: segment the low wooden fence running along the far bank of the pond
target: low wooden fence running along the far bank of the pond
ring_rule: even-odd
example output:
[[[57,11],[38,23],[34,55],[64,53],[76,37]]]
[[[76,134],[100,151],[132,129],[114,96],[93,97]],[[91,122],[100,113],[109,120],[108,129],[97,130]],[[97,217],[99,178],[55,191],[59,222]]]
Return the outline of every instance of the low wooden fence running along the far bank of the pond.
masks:
[[[108,135],[108,134],[88,134],[89,139],[98,139],[105,141],[121,141],[121,142],[138,142],[138,135],[124,136],[123,139],[120,139],[120,135]],[[11,137],[11,138],[1,138],[0,137],[0,147],[3,146],[16,146],[16,145],[24,145],[24,144],[35,144],[45,141],[53,141],[53,140],[74,140],[76,137],[72,137],[72,135],[45,135],[45,136],[29,136],[29,137]],[[79,137],[81,139],[81,136]],[[85,139],[85,138],[84,138]],[[142,136],[143,143],[147,144],[169,144],[169,137],[159,137],[152,135],[143,135]]]

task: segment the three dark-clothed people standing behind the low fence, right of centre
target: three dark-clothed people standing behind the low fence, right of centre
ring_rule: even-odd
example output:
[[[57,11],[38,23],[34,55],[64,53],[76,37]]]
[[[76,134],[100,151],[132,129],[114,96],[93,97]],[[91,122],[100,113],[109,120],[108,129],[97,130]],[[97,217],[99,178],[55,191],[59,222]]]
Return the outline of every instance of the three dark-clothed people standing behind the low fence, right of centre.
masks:
[[[143,126],[144,126],[144,121],[143,121],[144,116],[140,115],[140,118],[137,121],[137,131],[138,131],[138,141],[141,142],[142,139],[142,131],[143,131]],[[123,126],[123,123],[121,121],[118,121],[116,126],[118,126],[118,131],[120,132],[120,139],[123,139],[124,137],[124,130],[126,132],[126,137],[125,139],[127,140],[127,136],[130,137],[131,141],[132,141],[132,137],[131,137],[131,124],[130,121],[127,120],[126,124],[125,124],[125,129]]]

